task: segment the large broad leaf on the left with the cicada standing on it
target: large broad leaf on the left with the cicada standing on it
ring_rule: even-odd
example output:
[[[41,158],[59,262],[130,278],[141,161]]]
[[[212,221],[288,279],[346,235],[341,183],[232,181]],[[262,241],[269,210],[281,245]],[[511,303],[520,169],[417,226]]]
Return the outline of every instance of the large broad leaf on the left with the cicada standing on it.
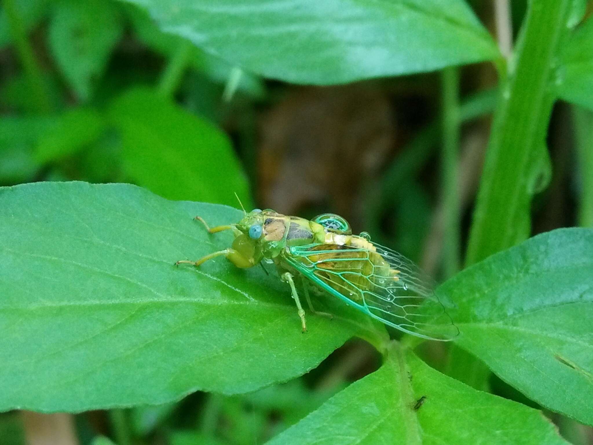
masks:
[[[243,212],[122,184],[0,188],[0,411],[249,392],[306,373],[353,335],[385,341],[334,300],[320,301],[333,320],[308,315],[302,333],[272,269],[174,266],[231,244],[196,214],[217,225]]]

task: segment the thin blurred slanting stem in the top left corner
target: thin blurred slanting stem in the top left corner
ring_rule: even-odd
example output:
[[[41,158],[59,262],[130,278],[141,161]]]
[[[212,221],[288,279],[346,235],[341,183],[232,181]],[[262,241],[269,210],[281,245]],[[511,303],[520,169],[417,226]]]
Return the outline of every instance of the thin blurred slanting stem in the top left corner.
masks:
[[[4,0],[4,8],[6,10],[8,27],[10,29],[12,40],[17,48],[18,57],[23,65],[29,88],[34,93],[34,110],[38,113],[49,113],[51,111],[51,106],[43,82],[42,71],[27,39],[23,21],[18,15],[14,0]]]

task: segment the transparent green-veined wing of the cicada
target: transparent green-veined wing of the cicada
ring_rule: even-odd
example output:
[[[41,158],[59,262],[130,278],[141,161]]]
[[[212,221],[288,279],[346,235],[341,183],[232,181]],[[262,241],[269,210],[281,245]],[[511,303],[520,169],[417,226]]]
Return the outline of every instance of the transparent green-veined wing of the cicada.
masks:
[[[385,325],[422,338],[451,340],[459,330],[434,282],[403,255],[336,244],[291,247],[287,261],[308,279]]]

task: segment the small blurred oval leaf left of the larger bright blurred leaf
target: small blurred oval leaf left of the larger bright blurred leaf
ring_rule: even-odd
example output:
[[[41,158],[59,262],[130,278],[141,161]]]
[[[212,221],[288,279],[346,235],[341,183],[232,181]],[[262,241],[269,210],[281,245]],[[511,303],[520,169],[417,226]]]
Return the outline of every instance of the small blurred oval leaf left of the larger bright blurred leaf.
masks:
[[[35,156],[44,164],[57,161],[95,141],[104,130],[97,110],[75,108],[63,113],[37,141]]]

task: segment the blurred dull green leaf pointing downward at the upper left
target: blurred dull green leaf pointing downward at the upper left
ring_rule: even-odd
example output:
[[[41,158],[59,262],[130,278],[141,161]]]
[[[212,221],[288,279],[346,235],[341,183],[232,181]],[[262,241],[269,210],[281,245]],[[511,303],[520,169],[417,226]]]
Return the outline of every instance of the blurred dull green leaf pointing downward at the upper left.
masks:
[[[122,32],[117,8],[110,1],[62,0],[55,5],[49,46],[79,100],[91,97]]]

